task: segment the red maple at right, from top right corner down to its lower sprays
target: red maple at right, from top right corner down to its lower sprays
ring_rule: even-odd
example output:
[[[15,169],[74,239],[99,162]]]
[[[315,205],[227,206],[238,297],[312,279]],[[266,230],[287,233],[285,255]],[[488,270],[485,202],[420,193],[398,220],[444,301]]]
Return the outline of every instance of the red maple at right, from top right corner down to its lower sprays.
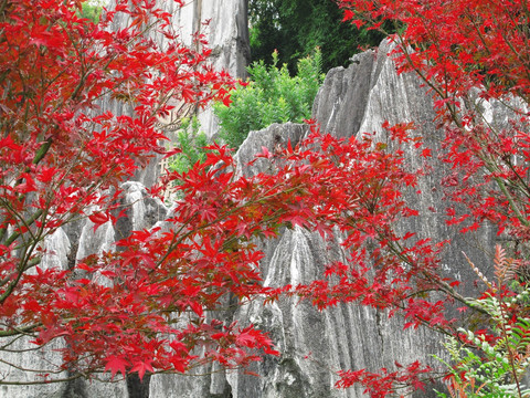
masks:
[[[427,94],[434,97],[442,149],[424,147],[418,154],[427,157],[436,154],[448,166],[448,174],[439,181],[446,200],[447,224],[460,226],[463,234],[485,224],[494,226],[505,241],[511,242],[517,268],[523,273],[528,266],[526,253],[530,237],[528,3],[519,0],[338,0],[337,3],[344,11],[344,21],[358,27],[382,32],[393,27],[396,33],[385,33],[394,42],[391,55],[398,71],[417,74]],[[502,115],[502,119],[495,119],[491,116],[495,114]],[[414,139],[422,142],[423,138],[417,137],[413,125],[407,124],[410,121],[403,122],[398,126],[386,123],[382,127],[394,138],[407,140],[411,148]],[[409,211],[399,217],[403,216],[418,214]],[[326,297],[320,304],[324,306],[333,304],[338,297],[351,297],[361,304],[401,312],[409,320],[405,327],[425,324],[462,338],[454,329],[454,321],[447,318],[446,306],[455,301],[468,307],[473,307],[473,303],[457,291],[458,281],[441,276],[439,250],[451,242],[434,242],[435,237],[414,237],[413,233],[399,235],[388,221],[392,220],[374,220],[371,234],[362,238],[374,239],[375,251],[369,253],[357,241],[351,247],[352,260],[367,264],[367,270],[375,271],[375,276],[370,273],[368,283],[360,283],[359,266],[339,264],[328,272],[341,275],[340,284],[322,287],[322,281],[315,282],[312,286],[300,286],[303,294]],[[413,237],[420,240],[407,242]],[[462,266],[469,266],[468,260],[463,260]],[[487,292],[483,297],[495,296],[502,303],[507,296],[516,295],[515,285],[496,286],[474,264],[471,266],[485,281]],[[360,269],[364,271],[363,266]],[[496,276],[507,282],[501,271],[507,270],[498,266]],[[516,286],[516,291],[520,289]],[[377,294],[379,291],[381,295]],[[425,292],[436,292],[437,298],[426,298]],[[523,305],[510,308],[502,305],[502,311],[511,316],[511,324],[526,318]],[[486,331],[481,334],[486,341],[494,338]],[[509,353],[510,358],[515,356],[516,353]],[[371,396],[384,397],[394,391],[396,384],[406,384],[407,379],[416,388],[422,386],[417,376],[428,368],[420,368],[418,364],[411,367],[413,371],[411,368],[394,373],[383,369],[381,375],[367,370],[342,371],[339,385],[348,387],[360,383]],[[511,376],[521,396],[520,376],[516,371]]]

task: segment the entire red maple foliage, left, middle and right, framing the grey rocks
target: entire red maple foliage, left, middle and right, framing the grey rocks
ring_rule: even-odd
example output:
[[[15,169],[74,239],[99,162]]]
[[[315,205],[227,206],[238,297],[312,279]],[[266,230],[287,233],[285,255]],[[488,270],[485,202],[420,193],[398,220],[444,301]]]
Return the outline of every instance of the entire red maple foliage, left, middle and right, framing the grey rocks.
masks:
[[[402,312],[405,326],[455,333],[445,300],[469,303],[439,276],[444,242],[394,229],[399,219],[417,216],[404,197],[416,191],[424,171],[409,169],[403,148],[433,153],[407,123],[382,126],[390,147],[371,135],[341,140],[314,132],[296,148],[264,150],[259,157],[274,175],[240,176],[227,150],[214,146],[204,164],[168,175],[165,182],[178,180],[182,196],[168,230],[134,231],[117,242],[119,250],[70,269],[40,265],[50,254],[43,242],[59,228],[78,219],[95,228],[116,220],[120,182],[165,151],[156,122],[173,111],[170,100],[229,101],[233,82],[208,65],[203,38],[195,38],[194,50],[183,45],[171,15],[155,3],[118,0],[93,23],[80,18],[81,0],[0,0],[0,336],[28,335],[38,346],[63,339],[62,363],[50,373],[141,378],[212,360],[239,367],[277,354],[252,325],[205,316],[227,297],[241,303],[288,293],[320,308],[356,301]],[[463,232],[494,222],[526,244],[526,3],[339,4],[358,24],[394,21],[400,70],[417,72],[436,95],[446,132],[441,158],[454,170],[442,185],[449,202],[466,205],[464,212],[448,206],[448,222],[473,220]],[[128,25],[110,29],[124,15]],[[166,38],[163,48],[149,39],[152,32]],[[103,98],[130,106],[132,116],[102,112]],[[513,115],[501,127],[478,106],[492,100]],[[329,264],[322,280],[307,286],[263,286],[256,241],[296,226],[324,238],[340,231],[349,263]],[[430,291],[443,294],[430,300]],[[399,367],[379,377],[343,371],[340,386],[361,383],[374,397],[395,383],[422,386],[426,368]]]

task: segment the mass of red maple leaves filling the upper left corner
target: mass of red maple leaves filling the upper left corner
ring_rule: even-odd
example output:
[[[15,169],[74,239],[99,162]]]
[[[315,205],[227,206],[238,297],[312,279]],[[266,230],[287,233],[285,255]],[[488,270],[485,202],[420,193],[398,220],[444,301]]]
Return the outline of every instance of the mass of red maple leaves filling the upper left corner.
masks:
[[[171,109],[161,93],[205,104],[226,96],[232,85],[205,63],[210,50],[193,51],[177,41],[168,28],[171,15],[153,3],[118,1],[98,24],[80,19],[80,9],[81,1],[2,2],[0,235],[6,247],[30,228],[39,241],[73,214],[107,202],[103,190],[160,153],[166,138],[155,128],[156,116]],[[120,13],[131,23],[112,31]],[[170,42],[167,50],[146,39],[148,19],[150,30]],[[97,104],[104,96],[132,107],[134,116],[102,113]]]

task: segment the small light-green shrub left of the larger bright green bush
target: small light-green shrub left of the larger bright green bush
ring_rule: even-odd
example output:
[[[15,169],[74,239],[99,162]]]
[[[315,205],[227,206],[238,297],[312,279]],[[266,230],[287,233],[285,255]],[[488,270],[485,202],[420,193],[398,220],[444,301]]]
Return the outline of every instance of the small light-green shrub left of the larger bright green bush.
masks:
[[[204,132],[200,132],[200,123],[197,117],[184,119],[181,129],[177,133],[177,147],[182,153],[174,156],[169,164],[170,171],[186,172],[194,164],[203,163],[206,159],[208,137]]]

